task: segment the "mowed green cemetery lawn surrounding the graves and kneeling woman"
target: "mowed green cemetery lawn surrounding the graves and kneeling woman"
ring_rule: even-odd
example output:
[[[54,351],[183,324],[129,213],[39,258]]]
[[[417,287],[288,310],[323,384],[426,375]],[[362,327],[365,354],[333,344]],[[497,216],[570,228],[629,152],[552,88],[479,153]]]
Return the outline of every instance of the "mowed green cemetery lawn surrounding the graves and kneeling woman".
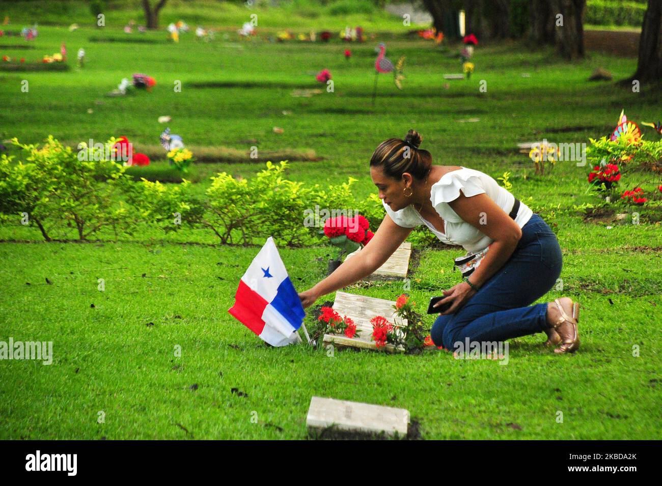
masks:
[[[398,24],[395,18],[394,31]],[[107,29],[104,35],[123,35]],[[93,28],[40,29],[37,49],[24,51],[26,58],[52,54],[64,41],[70,56],[85,47],[87,63],[68,73],[0,73],[0,138],[38,142],[53,134],[75,142],[126,135],[139,149],[158,143],[164,126],[157,118],[169,114],[172,131],[190,145],[314,149],[324,160],[292,163],[288,177],[307,184],[355,177],[355,194],[363,198],[375,190],[368,171],[374,147],[415,128],[435,163],[493,177],[511,171],[518,198],[568,209],[597,202],[586,192],[587,168],[559,163],[551,175],[535,176],[516,143],[588,142],[613,128],[621,108],[637,122],[656,120],[659,111],[649,87],[632,93],[586,81],[598,66],[626,77],[634,58],[592,54],[563,63],[519,44],[481,44],[471,80],[449,81],[445,89],[443,74],[460,71],[459,60],[446,55],[456,48],[440,52],[430,42],[388,32],[361,45],[240,42],[229,28],[227,40],[209,44],[195,42],[193,34],[179,45],[87,42],[98,35]],[[391,77],[380,75],[373,108],[373,48],[380,40],[391,59],[407,56],[406,81],[397,91]],[[342,55],[346,47],[350,61]],[[314,73],[325,67],[334,93],[291,96],[294,89],[322,87]],[[104,97],[133,72],[156,77],[152,93]],[[23,79],[28,93],[20,91]],[[173,91],[176,80],[181,93]],[[467,118],[480,122],[459,122]],[[654,140],[652,131],[644,133]],[[250,177],[261,167],[210,163],[202,170]],[[199,182],[199,190],[207,183]],[[544,216],[551,221],[553,215]],[[581,350],[556,356],[542,347],[543,335],[525,337],[510,342],[505,366],[437,350],[408,356],[336,350],[329,357],[307,346],[268,348],[227,312],[258,248],[213,246],[205,231],[166,237],[146,228],[132,241],[78,244],[40,243],[34,228],[0,227],[4,240],[35,241],[0,243],[0,341],[54,343],[50,366],[0,362],[0,438],[305,438],[312,395],[404,407],[428,439],[658,438],[660,227],[587,223],[566,214],[553,220],[564,290],[541,301],[567,295],[581,302]],[[420,250],[409,292],[422,311],[430,296],[458,282],[451,261],[463,252]],[[280,253],[301,291],[323,278],[334,249]],[[396,281],[346,290],[395,300],[403,288]],[[431,325],[434,316],[427,319]],[[99,411],[104,423],[97,421]],[[557,423],[559,411],[563,423]]]

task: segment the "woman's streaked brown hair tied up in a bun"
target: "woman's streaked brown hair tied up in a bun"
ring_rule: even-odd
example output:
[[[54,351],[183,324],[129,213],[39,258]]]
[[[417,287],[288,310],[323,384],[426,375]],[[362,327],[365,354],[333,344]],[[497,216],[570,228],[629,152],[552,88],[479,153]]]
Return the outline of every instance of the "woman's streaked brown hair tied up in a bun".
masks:
[[[375,149],[370,165],[382,167],[385,175],[395,179],[401,179],[407,172],[422,180],[432,169],[432,155],[418,148],[422,140],[416,130],[409,130],[404,140],[389,138]],[[405,157],[407,147],[409,157]]]

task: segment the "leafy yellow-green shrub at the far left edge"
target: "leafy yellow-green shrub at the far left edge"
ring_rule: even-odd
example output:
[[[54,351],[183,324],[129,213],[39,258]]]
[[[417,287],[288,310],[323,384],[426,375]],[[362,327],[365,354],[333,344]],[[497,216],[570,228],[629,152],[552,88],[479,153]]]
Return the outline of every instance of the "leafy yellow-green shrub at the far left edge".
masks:
[[[105,159],[99,149],[87,147],[74,153],[52,136],[43,147],[12,143],[26,151],[26,164],[13,164],[8,157],[0,164],[1,211],[7,218],[27,214],[28,224],[37,225],[47,241],[52,233],[69,233],[73,227],[79,240],[102,228],[112,227],[117,236],[132,227],[130,208],[118,200],[130,178],[122,164]],[[104,147],[107,153],[115,143]],[[81,157],[81,154],[86,157]]]

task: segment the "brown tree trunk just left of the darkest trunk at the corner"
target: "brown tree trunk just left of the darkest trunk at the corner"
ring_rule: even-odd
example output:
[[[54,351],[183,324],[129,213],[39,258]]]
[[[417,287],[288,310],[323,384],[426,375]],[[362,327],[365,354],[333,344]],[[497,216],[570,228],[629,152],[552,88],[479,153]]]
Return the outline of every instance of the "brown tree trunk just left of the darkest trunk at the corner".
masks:
[[[551,17],[555,26],[556,48],[567,60],[584,57],[583,17],[586,0],[552,0]],[[562,17],[557,19],[557,15]],[[563,21],[563,25],[557,25]]]

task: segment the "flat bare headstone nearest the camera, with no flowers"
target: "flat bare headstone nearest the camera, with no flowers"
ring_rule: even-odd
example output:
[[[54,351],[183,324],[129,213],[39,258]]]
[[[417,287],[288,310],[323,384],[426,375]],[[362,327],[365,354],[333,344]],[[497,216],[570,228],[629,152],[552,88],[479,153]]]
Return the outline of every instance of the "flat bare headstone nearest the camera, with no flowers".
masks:
[[[356,401],[312,397],[306,425],[315,431],[334,428],[342,432],[380,434],[387,436],[407,434],[409,412],[406,409],[383,407]]]

